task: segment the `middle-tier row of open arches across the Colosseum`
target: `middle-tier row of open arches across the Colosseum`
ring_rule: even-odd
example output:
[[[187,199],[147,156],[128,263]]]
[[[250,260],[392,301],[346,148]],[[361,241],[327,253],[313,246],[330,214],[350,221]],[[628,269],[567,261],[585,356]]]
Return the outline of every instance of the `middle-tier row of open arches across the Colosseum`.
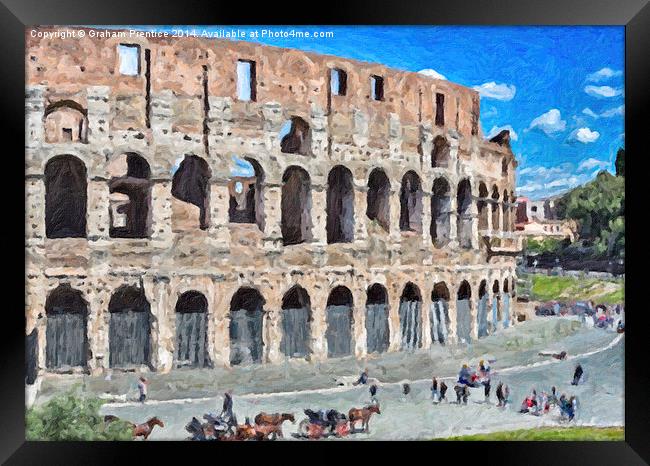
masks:
[[[255,160],[246,158],[249,167],[242,176],[231,181],[229,220],[233,223],[257,224],[265,228],[263,182],[264,171]],[[115,238],[146,238],[151,234],[151,169],[148,162],[135,153],[126,153],[111,163],[109,235]],[[198,207],[199,228],[210,224],[211,170],[207,162],[196,155],[185,155],[176,168],[171,186],[174,198]],[[58,155],[45,166],[45,224],[48,238],[79,238],[86,236],[87,171],[84,163],[73,155]],[[366,216],[385,231],[390,230],[391,183],[385,171],[375,168],[368,177]],[[312,186],[307,171],[290,166],[282,177],[281,234],[285,245],[312,240]],[[512,230],[510,211],[514,193],[503,192],[503,229]],[[399,190],[399,228],[403,232],[422,233],[424,191],[417,173],[407,171]],[[452,189],[444,177],[434,180],[431,196],[430,234],[436,246],[445,245],[450,237]],[[462,179],[456,189],[457,234],[460,245],[472,247],[472,186]],[[489,226],[488,205],[492,206],[492,225],[499,220],[499,191],[496,186],[488,195],[485,183],[479,184],[479,230]],[[342,166],[334,167],[327,178],[326,199],[327,242],[354,241],[355,189],[352,172]]]

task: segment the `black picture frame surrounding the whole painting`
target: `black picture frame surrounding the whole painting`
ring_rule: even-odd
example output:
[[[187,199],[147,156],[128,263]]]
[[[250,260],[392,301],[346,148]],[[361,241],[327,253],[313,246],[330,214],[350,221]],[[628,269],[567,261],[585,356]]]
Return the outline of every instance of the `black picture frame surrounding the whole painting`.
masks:
[[[650,5],[646,0],[501,0],[499,2],[454,0],[424,4],[423,2],[340,2],[314,5],[304,3],[291,7],[287,2],[239,6],[230,10],[214,1],[184,0],[139,2],[111,0],[2,0],[0,5],[0,53],[2,63],[2,112],[4,129],[3,213],[0,239],[4,246],[5,277],[3,296],[2,356],[0,356],[0,460],[7,464],[115,464],[120,461],[154,464],[155,457],[171,458],[169,453],[183,452],[185,460],[203,461],[196,454],[223,461],[224,453],[236,453],[239,461],[252,461],[253,455],[277,455],[278,460],[308,461],[317,458],[314,449],[335,448],[332,460],[341,462],[371,461],[387,449],[400,455],[395,461],[479,461],[497,464],[648,464],[650,442],[649,374],[645,364],[644,331],[648,312],[643,307],[643,265],[647,254],[644,246],[645,198],[642,193],[643,175],[648,155],[642,137],[642,127],[650,83]],[[255,10],[254,13],[251,10]],[[304,12],[297,17],[296,12]],[[20,155],[23,141],[15,137],[24,131],[24,41],[25,28],[30,25],[75,24],[476,24],[476,25],[622,25],[625,26],[625,131],[628,152],[626,197],[628,211],[637,216],[628,218],[627,268],[637,270],[626,277],[627,313],[625,360],[625,441],[624,442],[377,442],[359,445],[356,442],[273,442],[269,444],[215,445],[180,442],[145,443],[82,443],[26,442],[24,439],[24,377],[25,340],[24,314],[20,310],[21,296],[17,290],[25,281],[17,271],[24,270],[25,225],[24,193],[21,173],[24,163]],[[645,131],[644,131],[645,130]],[[9,149],[9,142],[18,147]],[[21,147],[21,145],[23,147]],[[630,157],[631,155],[631,157]],[[21,168],[22,167],[22,168]],[[646,195],[647,197],[647,195]],[[24,198],[23,198],[24,201]],[[644,237],[642,237],[642,235]],[[645,241],[644,241],[645,240]],[[15,245],[14,245],[15,244]],[[634,247],[639,247],[635,254]],[[11,252],[12,254],[7,254]],[[13,296],[14,299],[6,299]],[[11,304],[10,304],[11,303]],[[289,446],[291,453],[286,450]],[[268,450],[281,449],[277,453]],[[301,451],[296,451],[299,448]],[[406,449],[408,448],[408,450]],[[267,450],[268,449],[268,450]],[[422,449],[415,452],[413,449]],[[326,453],[330,454],[330,453]],[[443,459],[445,454],[451,455]],[[285,456],[290,455],[290,456]],[[421,459],[416,459],[417,457]],[[474,458],[474,459],[472,459]],[[159,460],[160,460],[159,459]],[[231,460],[234,461],[234,460]]]

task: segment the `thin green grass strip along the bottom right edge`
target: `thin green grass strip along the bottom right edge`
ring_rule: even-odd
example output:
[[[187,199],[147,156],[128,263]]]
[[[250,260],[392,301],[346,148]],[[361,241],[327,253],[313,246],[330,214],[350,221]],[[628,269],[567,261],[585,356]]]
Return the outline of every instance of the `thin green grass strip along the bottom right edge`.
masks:
[[[436,440],[499,440],[499,441],[624,441],[623,427],[541,427],[536,429],[507,430],[489,434],[461,435]]]

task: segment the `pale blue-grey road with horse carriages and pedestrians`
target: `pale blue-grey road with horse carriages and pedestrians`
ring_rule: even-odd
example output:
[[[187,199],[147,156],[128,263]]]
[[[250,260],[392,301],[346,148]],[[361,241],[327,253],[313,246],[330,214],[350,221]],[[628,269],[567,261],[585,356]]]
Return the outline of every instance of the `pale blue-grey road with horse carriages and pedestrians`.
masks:
[[[577,425],[623,425],[624,423],[624,338],[617,337],[615,333],[599,329],[581,328],[569,336],[553,338],[552,341],[538,341],[533,333],[543,334],[546,330],[557,333],[558,329],[552,321],[533,321],[526,326],[521,326],[512,335],[503,335],[501,344],[503,355],[498,354],[495,347],[493,355],[497,361],[492,364],[493,386],[501,380],[511,388],[512,404],[507,408],[495,406],[494,388],[490,402],[483,403],[482,389],[473,389],[467,406],[455,403],[442,403],[434,405],[430,399],[429,381],[419,380],[420,372],[413,371],[406,380],[416,380],[411,383],[412,391],[408,397],[401,394],[400,383],[394,380],[384,380],[381,376],[378,398],[381,404],[381,414],[371,420],[370,433],[360,433],[349,439],[429,439],[481,433],[497,430],[510,430],[519,428],[534,428],[547,425],[559,425],[559,413],[551,413],[536,417],[528,414],[519,414],[517,411],[521,401],[534,388],[550,390],[556,386],[558,392],[568,396],[576,395],[579,400],[579,410],[575,419]],[[528,328],[525,328],[528,327]],[[507,333],[507,332],[504,332]],[[507,342],[520,339],[519,345],[526,343],[527,338],[532,338],[537,346],[520,349],[519,351],[507,350]],[[489,338],[485,340],[487,347],[479,345],[473,347],[474,353],[470,357],[461,358],[458,354],[448,364],[435,367],[431,364],[426,377],[430,377],[433,370],[441,376],[453,376],[458,370],[461,360],[467,360],[474,365],[479,353],[488,354]],[[494,339],[496,340],[496,338]],[[575,356],[567,361],[555,361],[537,356],[540,350],[566,350],[569,355]],[[449,348],[449,351],[452,351]],[[455,351],[461,351],[456,349]],[[466,349],[467,351],[467,349]],[[532,356],[532,352],[535,356]],[[447,356],[450,357],[450,356]],[[571,386],[570,380],[576,364],[582,364],[585,370],[584,382],[579,386]],[[451,367],[453,366],[453,368]],[[453,369],[453,370],[452,370]],[[372,369],[371,369],[372,370]],[[393,377],[395,378],[395,377]],[[453,383],[448,385],[452,386]],[[235,414],[241,421],[246,416],[253,418],[258,412],[292,412],[297,421],[305,416],[305,408],[323,409],[334,408],[347,412],[351,407],[360,407],[369,401],[367,387],[353,388],[326,388],[322,390],[308,390],[293,393],[249,393],[244,394],[235,388]],[[448,392],[448,398],[454,401],[453,390]],[[105,405],[103,412],[115,414],[135,422],[143,422],[151,416],[158,416],[165,421],[165,428],[156,430],[150,437],[152,440],[183,439],[187,433],[185,424],[192,416],[201,417],[206,412],[218,411],[222,399],[214,396],[207,399],[182,399],[168,401],[151,401],[144,405],[126,402]],[[291,438],[291,433],[297,431],[297,425],[285,423],[285,436]]]

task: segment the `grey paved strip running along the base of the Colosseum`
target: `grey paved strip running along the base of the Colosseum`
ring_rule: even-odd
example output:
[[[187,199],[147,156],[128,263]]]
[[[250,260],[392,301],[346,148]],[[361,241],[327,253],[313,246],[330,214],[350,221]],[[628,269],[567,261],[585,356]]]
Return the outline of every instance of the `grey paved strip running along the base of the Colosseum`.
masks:
[[[335,387],[335,379],[353,377],[367,367],[370,376],[382,383],[452,376],[464,362],[476,366],[479,359],[496,359],[494,367],[530,364],[540,360],[542,350],[565,350],[578,354],[606,345],[612,338],[600,329],[582,328],[570,318],[538,318],[471,345],[433,345],[415,353],[386,353],[365,360],[340,358],[320,363],[289,361],[277,365],[258,365],[202,370],[176,369],[168,374],[147,374],[149,399],[214,397],[228,389],[236,395],[288,392]],[[73,386],[114,397],[116,401],[137,399],[139,374],[114,372],[110,380],[101,376],[49,376],[43,380],[37,403]]]

